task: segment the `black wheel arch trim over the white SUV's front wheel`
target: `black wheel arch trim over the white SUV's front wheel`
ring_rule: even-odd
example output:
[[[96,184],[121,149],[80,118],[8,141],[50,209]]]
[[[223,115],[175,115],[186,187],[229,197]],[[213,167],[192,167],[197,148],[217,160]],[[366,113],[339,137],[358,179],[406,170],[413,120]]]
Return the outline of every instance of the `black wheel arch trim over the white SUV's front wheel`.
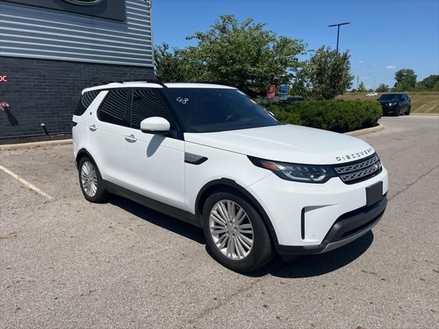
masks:
[[[270,239],[272,239],[272,243],[274,245],[278,244],[276,231],[274,230],[274,226],[268,217],[267,212],[263,209],[261,204],[257,201],[257,199],[244,188],[243,186],[237,184],[234,180],[230,180],[229,178],[221,178],[219,180],[213,180],[209,183],[204,184],[201,188],[200,192],[195,199],[195,215],[198,217],[198,224],[202,227],[202,208],[204,207],[204,203],[206,199],[211,195],[214,191],[233,191],[244,197],[245,199],[254,206],[255,210],[261,216],[265,226],[268,228],[268,232],[270,234]]]

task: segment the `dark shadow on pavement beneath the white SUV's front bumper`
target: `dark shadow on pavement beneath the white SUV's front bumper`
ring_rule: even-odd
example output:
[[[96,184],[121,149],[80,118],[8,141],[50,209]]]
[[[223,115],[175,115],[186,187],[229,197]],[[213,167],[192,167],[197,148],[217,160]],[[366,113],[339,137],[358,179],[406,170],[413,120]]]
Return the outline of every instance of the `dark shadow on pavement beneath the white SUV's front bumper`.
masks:
[[[366,252],[373,241],[372,231],[367,232],[359,239],[344,245],[332,252],[319,255],[305,255],[291,262],[284,262],[276,256],[268,265],[248,273],[248,276],[261,277],[271,274],[279,278],[310,278],[322,276],[352,263],[361,254]]]

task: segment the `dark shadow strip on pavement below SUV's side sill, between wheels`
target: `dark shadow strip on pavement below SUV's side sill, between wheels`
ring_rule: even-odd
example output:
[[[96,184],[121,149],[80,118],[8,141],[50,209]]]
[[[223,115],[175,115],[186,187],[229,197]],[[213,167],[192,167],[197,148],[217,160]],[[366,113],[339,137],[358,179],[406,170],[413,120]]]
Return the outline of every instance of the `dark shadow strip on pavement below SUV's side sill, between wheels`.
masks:
[[[191,239],[203,245],[206,243],[202,230],[189,223],[185,223],[184,221],[180,221],[174,217],[163,215],[161,212],[141,206],[141,204],[137,204],[134,201],[125,199],[123,197],[118,197],[116,195],[112,195],[108,201],[110,204],[118,206],[119,208],[132,213],[132,215],[137,216],[145,221],[149,221],[150,223],[160,226],[165,230],[180,234],[181,236],[185,236],[187,239]]]

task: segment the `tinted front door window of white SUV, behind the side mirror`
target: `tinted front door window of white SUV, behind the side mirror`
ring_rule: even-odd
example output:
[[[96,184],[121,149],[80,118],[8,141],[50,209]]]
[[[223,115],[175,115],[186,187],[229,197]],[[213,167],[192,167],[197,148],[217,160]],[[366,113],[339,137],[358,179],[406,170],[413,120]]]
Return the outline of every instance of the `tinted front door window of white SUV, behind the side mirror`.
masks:
[[[163,104],[155,92],[155,90],[141,88],[134,89],[132,92],[131,105],[131,127],[140,129],[140,123],[144,119],[150,117],[163,117],[171,123],[169,113],[163,107]]]

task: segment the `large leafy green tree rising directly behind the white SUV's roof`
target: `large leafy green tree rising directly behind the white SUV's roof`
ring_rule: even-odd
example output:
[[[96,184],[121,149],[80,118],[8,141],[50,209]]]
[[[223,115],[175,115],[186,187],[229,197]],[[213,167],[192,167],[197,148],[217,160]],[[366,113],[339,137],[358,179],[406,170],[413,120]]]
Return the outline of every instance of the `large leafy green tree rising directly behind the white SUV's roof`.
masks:
[[[251,96],[265,94],[270,84],[288,83],[302,65],[302,40],[276,36],[265,24],[235,16],[219,16],[207,32],[195,32],[188,40],[198,40],[184,55],[197,69],[194,81],[226,82]]]

